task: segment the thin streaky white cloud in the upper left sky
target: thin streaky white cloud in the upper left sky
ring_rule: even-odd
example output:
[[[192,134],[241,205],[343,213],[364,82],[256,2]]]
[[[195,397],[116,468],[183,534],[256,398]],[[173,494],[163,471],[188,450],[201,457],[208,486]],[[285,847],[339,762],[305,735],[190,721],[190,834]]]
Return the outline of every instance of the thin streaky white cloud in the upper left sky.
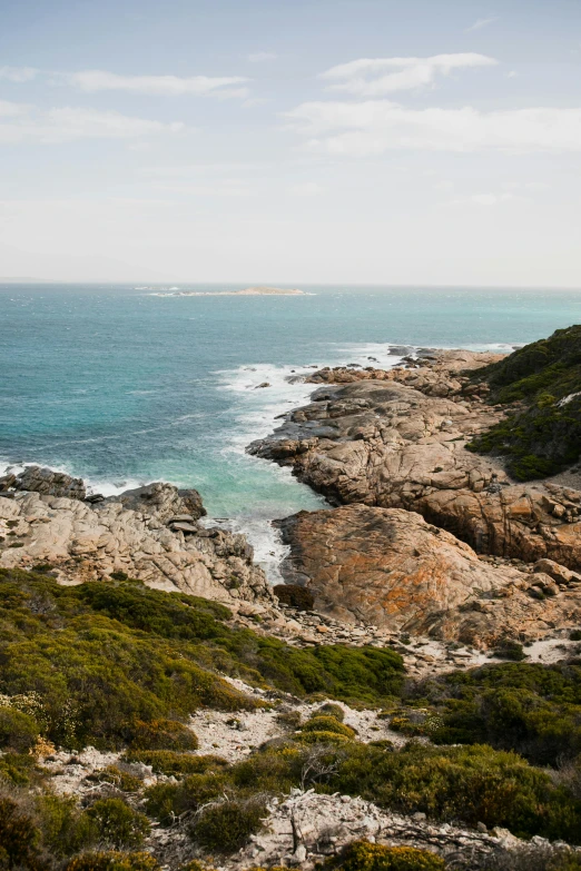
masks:
[[[86,93],[126,91],[160,96],[216,95],[218,97],[248,97],[248,89],[239,87],[247,81],[242,76],[118,76],[106,70],[81,70],[59,77]]]

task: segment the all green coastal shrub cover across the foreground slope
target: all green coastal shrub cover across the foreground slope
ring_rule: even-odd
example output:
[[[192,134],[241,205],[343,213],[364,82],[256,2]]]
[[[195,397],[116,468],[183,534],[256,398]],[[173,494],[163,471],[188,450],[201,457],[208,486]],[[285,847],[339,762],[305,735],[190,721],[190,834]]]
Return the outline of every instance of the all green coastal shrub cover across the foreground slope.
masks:
[[[236,690],[226,674],[268,689],[267,701]],[[4,570],[0,869],[156,871],[140,851],[152,823],[176,821],[204,854],[232,854],[260,831],[273,796],[293,788],[579,843],[580,686],[574,661],[495,664],[414,683],[387,649],[299,650],[235,627],[227,608],[206,600],[132,581],[59,586],[43,573]],[[321,706],[305,722],[279,714],[287,731],[242,761],[194,755],[194,711],[250,716],[287,692]],[[410,741],[363,743],[339,705],[323,704],[327,697],[382,706],[380,716]],[[122,755],[90,775],[96,791],[78,801],[52,792],[36,761],[50,741]],[[139,764],[160,775],[156,784],[137,776]]]

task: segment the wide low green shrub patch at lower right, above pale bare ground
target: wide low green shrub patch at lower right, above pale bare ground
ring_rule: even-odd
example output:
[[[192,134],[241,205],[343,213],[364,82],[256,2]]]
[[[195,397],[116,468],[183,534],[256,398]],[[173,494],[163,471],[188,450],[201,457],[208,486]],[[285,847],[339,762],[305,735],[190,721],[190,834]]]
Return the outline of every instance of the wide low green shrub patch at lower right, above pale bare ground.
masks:
[[[578,843],[581,802],[515,753],[489,746],[408,744],[398,753],[353,743],[328,789],[362,795],[402,813],[501,825]]]

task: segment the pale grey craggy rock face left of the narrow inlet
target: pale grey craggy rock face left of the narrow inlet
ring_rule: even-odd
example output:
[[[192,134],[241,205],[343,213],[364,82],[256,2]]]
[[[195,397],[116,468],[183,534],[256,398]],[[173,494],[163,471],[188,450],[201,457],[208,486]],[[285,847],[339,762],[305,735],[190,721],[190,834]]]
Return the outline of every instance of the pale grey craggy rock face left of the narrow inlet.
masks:
[[[107,501],[95,506],[38,493],[0,496],[0,566],[48,563],[69,583],[125,572],[150,586],[227,603],[274,602],[243,535],[194,523],[188,525],[195,532],[185,534],[171,525],[170,515],[188,508],[191,521],[196,512],[199,516],[201,506],[191,492],[180,496],[168,484],[145,489],[145,498],[132,493],[125,504]],[[136,511],[127,504],[141,507]]]

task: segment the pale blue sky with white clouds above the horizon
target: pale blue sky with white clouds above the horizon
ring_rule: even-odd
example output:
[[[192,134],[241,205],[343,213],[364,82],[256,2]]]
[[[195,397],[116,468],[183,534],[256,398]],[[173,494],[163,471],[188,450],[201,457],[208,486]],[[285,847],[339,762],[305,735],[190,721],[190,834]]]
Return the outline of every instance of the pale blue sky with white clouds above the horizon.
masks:
[[[581,0],[0,0],[0,277],[581,288]]]

